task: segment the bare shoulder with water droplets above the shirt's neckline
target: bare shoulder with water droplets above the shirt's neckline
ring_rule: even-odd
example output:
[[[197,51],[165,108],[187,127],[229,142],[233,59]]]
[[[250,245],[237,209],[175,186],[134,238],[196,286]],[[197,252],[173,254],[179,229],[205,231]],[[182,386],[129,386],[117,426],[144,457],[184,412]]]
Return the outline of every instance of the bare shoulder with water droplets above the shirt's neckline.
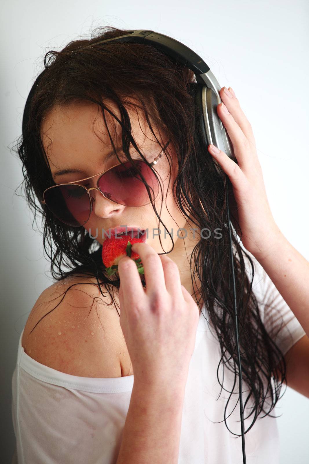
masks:
[[[25,353],[45,366],[80,377],[129,375],[123,372],[122,360],[128,354],[119,311],[107,290],[102,292],[104,296],[95,278],[69,277],[50,285],[26,322]],[[113,296],[119,305],[118,295]]]

